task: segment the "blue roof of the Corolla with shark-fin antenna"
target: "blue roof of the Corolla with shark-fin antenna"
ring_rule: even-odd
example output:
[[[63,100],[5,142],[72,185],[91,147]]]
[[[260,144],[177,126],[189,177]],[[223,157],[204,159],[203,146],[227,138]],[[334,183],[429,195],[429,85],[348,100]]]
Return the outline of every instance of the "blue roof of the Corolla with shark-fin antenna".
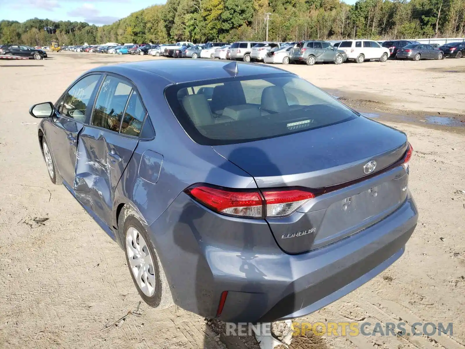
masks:
[[[221,60],[146,60],[93,68],[91,71],[113,72],[131,79],[141,71],[157,74],[172,83],[197,80],[210,80],[231,77],[231,73],[223,69],[231,64]],[[290,74],[288,71],[262,64],[237,62],[237,76],[259,74]]]

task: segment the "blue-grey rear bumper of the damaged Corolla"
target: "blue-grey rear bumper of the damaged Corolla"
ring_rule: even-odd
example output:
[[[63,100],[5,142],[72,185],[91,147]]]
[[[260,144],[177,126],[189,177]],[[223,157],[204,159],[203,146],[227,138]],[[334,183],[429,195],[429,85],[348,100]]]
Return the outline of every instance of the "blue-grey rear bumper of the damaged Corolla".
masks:
[[[218,215],[181,193],[149,227],[174,302],[204,317],[272,322],[316,311],[402,255],[416,227],[410,196],[359,233],[299,255],[284,253],[264,220]]]

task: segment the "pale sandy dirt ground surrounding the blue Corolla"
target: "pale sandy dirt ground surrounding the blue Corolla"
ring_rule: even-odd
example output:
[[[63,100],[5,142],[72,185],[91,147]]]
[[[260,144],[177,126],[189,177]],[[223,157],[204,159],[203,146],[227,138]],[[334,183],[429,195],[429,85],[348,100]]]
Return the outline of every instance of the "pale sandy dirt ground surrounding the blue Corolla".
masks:
[[[123,251],[65,187],[50,182],[38,120],[28,109],[56,101],[87,69],[147,59],[154,58],[59,53],[0,60],[0,347],[257,347],[251,338],[217,336],[182,309],[157,311],[145,303],[105,328],[135,310],[140,297]],[[410,189],[420,212],[399,261],[299,321],[453,322],[452,336],[307,336],[291,347],[465,348],[465,59],[285,68],[408,134]],[[448,127],[426,119],[444,115],[451,117]]]

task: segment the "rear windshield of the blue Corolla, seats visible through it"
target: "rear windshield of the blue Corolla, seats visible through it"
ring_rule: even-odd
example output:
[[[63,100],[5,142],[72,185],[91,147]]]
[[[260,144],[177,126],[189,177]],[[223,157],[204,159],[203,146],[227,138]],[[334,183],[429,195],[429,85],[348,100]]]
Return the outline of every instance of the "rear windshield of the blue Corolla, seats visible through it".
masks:
[[[293,74],[188,82],[167,87],[165,96],[181,126],[203,145],[278,137],[358,117]]]

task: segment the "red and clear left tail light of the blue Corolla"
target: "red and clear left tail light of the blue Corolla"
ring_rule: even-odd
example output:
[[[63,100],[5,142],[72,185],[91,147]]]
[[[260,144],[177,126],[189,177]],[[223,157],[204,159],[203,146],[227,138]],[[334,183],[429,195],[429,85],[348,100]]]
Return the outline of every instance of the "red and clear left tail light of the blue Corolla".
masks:
[[[252,218],[291,215],[306,201],[315,197],[300,188],[241,190],[211,184],[197,184],[185,190],[200,204],[215,212]]]

